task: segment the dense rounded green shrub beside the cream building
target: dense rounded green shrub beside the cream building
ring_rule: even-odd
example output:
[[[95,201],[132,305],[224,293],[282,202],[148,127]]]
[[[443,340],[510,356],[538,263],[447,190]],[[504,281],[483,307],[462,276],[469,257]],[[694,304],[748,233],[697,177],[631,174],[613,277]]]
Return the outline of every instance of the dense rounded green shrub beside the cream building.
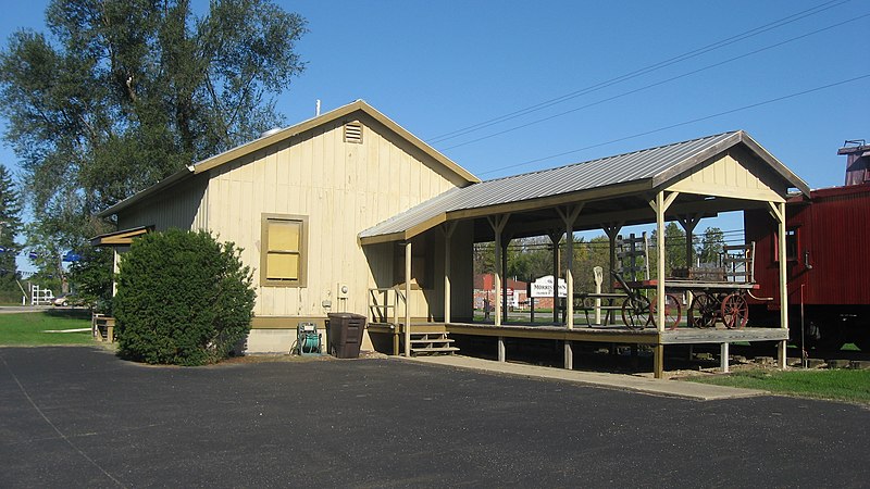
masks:
[[[251,272],[232,242],[170,229],[134,240],[114,299],[119,353],[151,364],[225,359],[250,330]]]

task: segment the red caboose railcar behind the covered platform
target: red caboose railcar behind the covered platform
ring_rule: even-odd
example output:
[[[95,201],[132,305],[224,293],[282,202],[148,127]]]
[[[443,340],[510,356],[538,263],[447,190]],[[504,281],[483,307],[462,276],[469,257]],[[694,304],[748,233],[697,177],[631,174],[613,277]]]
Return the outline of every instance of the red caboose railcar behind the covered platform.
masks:
[[[863,142],[863,141],[861,141]],[[870,351],[870,146],[842,148],[846,186],[813,190],[786,204],[788,305],[792,340],[820,348],[854,342]],[[765,211],[744,214],[746,240],[755,241],[755,280],[772,301],[750,301],[756,324],[780,310],[776,226]],[[801,315],[803,304],[803,315]]]

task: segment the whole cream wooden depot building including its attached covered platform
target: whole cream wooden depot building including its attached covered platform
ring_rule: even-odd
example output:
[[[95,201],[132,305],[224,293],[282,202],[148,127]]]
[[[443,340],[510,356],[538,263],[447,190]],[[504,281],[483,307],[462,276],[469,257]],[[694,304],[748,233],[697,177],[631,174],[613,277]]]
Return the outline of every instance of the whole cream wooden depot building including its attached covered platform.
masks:
[[[679,221],[691,235],[704,217],[766,209],[783,240],[792,189],[809,192],[744,131],[481,181],[356,101],[190,165],[119,202],[101,216],[114,215],[120,230],[94,242],[123,247],[140,233],[170,227],[208,229],[234,241],[254,269],[248,352],[287,352],[300,322],[323,327],[328,313],[353,312],[369,317],[371,336],[391,335],[396,353],[411,354],[415,329],[554,339],[564,343],[569,368],[574,341],[645,343],[654,348],[660,376],[663,347],[681,342],[726,348],[748,339],[779,341],[783,363],[787,309],[774,327],[701,335],[666,330],[663,317],[639,331],[575,327],[573,301],[567,301],[566,325],[502,324],[499,301],[493,324],[474,323],[473,244],[495,241],[498,289],[501,250],[511,239],[549,236],[558,243],[566,237],[570,246],[574,231],[604,229],[612,243],[623,226],[655,223],[654,276],[663,277],[667,221]],[[575,273],[568,253],[567,268],[554,274],[567,277],[568,297],[574,297]],[[660,302],[668,280],[651,286]],[[500,353],[504,360],[504,348]]]

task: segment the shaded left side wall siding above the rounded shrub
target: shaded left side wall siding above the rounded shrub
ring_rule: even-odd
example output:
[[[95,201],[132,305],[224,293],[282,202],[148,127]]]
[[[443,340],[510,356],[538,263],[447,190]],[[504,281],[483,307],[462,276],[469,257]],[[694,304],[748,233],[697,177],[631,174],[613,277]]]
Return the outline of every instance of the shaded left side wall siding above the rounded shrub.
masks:
[[[119,214],[117,228],[153,226],[158,231],[173,227],[208,229],[208,186],[204,175],[179,183],[169,191]]]

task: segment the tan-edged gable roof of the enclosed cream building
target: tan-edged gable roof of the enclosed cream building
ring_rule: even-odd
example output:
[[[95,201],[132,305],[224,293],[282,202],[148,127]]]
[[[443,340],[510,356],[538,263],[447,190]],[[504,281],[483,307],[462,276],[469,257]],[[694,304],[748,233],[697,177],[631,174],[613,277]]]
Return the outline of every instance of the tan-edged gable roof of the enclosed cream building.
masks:
[[[224,165],[226,163],[236,161],[243,156],[246,156],[250,153],[259,151],[263,148],[278,143],[286,139],[289,139],[294,136],[302,134],[304,131],[311,130],[315,127],[322,126],[324,124],[332,123],[336,120],[341,117],[346,117],[355,112],[363,112],[384,125],[386,128],[398,135],[400,138],[407,140],[420,151],[432,158],[433,160],[437,161],[448,172],[458,176],[461,180],[465,181],[467,184],[477,184],[481,181],[480,178],[471,174],[469,171],[463,168],[462,166],[455,163],[449,158],[445,156],[431,146],[426,145],[422,139],[418,138],[413,134],[409,133],[407,129],[401,127],[400,125],[396,124],[393,120],[384,115],[383,113],[378,112],[373,106],[369,105],[363,100],[357,100],[355,102],[348,103],[347,105],[339,106],[338,109],[332,110],[324,114],[321,114],[316,117],[310,118],[308,121],[303,121],[299,124],[285,127],[283,129],[276,130],[274,133],[268,134],[266,136],[262,136],[258,139],[254,139],[250,142],[246,142],[245,145],[237,146],[233,149],[224,151],[223,153],[216,154],[211,158],[207,158],[198,163],[189,165],[169,177],[164,178],[163,180],[159,181],[158,184],[135,193],[134,196],[128,197],[127,199],[117,202],[116,204],[105,209],[104,211],[100,212],[98,215],[100,217],[108,217],[112,214],[115,214],[120,211],[123,211],[126,208],[139,202],[150,196],[161,192],[162,190],[172,187],[173,185],[178,184],[182,180],[185,180],[194,175],[201,174],[203,172],[208,172],[212,168],[217,166]]]

